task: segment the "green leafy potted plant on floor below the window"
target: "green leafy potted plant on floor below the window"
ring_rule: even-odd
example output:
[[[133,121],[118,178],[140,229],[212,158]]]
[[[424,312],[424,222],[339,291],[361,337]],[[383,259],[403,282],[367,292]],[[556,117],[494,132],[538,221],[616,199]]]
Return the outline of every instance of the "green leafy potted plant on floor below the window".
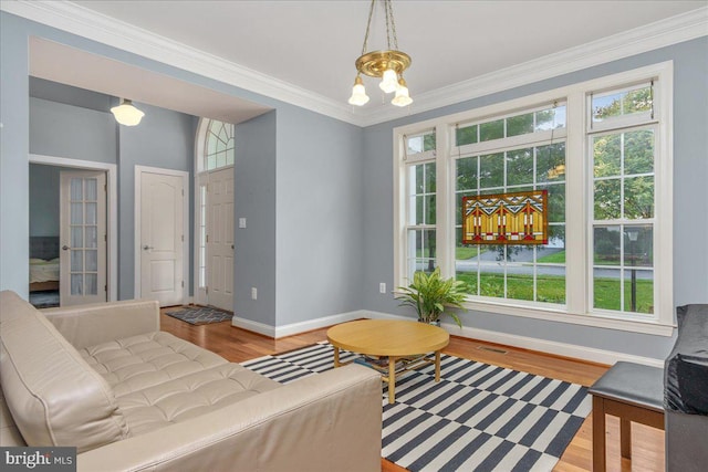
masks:
[[[464,308],[462,302],[467,296],[467,284],[455,279],[442,279],[440,268],[435,268],[430,274],[418,271],[413,275],[413,283],[398,287],[400,294],[396,295],[400,306],[413,306],[418,312],[418,321],[423,323],[440,324],[440,316],[446,306]],[[450,315],[459,327],[462,327],[460,318],[454,312],[445,312]]]

